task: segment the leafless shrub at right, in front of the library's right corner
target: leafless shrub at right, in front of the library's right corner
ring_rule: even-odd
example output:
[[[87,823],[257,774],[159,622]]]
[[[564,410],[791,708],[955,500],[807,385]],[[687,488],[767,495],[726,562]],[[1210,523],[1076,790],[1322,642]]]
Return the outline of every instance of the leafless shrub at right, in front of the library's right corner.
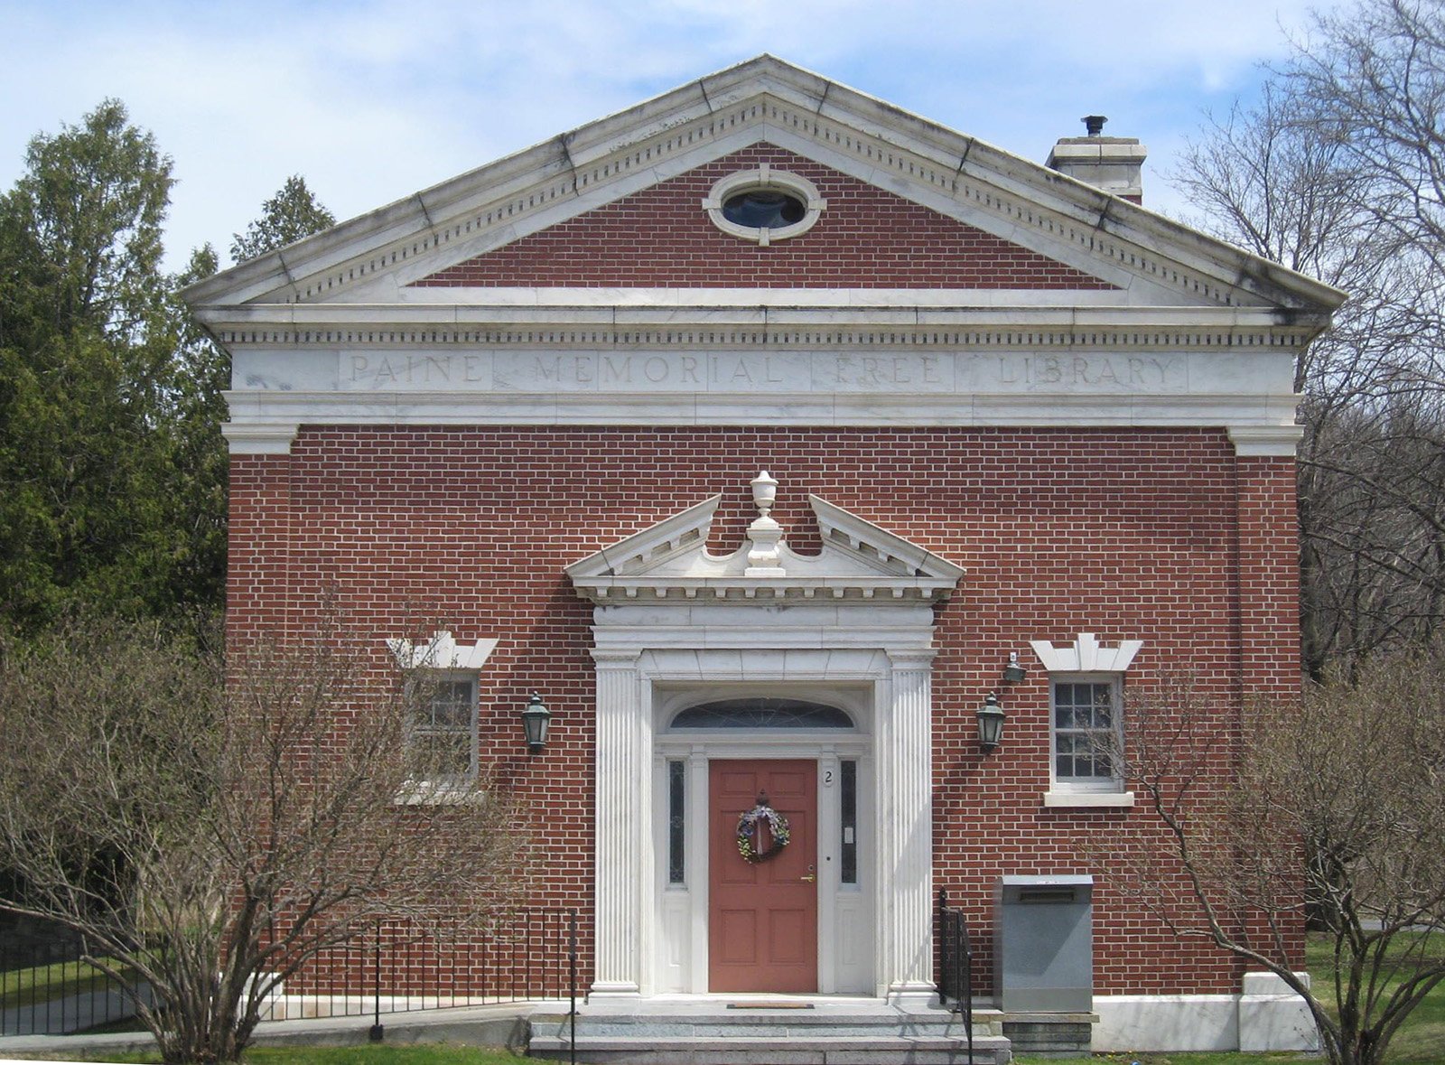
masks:
[[[1381,1061],[1445,980],[1445,646],[1331,671],[1237,728],[1188,679],[1136,692],[1127,717],[1126,775],[1168,848],[1139,828],[1153,845],[1104,863],[1118,889],[1279,975],[1331,1062]],[[1332,945],[1322,987],[1298,973],[1306,913]]]

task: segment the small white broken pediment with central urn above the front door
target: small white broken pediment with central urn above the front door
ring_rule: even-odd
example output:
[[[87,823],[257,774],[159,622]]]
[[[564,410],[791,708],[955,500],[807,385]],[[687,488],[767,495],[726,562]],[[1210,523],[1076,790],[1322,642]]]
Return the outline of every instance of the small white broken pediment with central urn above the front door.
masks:
[[[566,574],[578,595],[600,605],[666,600],[916,605],[948,598],[964,575],[962,566],[816,496],[808,497],[822,539],[816,555],[786,545],[786,530],[767,514],[770,501],[760,501],[762,514],[743,546],[714,555],[707,540],[721,500],[712,496],[571,564]]]

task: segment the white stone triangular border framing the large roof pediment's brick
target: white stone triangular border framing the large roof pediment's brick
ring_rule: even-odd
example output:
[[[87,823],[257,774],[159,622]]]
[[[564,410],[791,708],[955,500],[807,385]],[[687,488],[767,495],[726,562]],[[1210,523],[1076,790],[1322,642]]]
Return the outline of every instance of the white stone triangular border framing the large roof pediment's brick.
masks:
[[[468,321],[522,321],[519,303],[572,302],[562,293],[571,292],[574,282],[559,276],[555,285],[533,279],[493,286],[486,298],[478,298],[474,286],[418,282],[467,263],[501,262],[506,249],[545,241],[543,234],[556,234],[558,227],[616,210],[649,189],[666,189],[682,175],[759,145],[883,191],[951,225],[968,227],[1000,241],[1010,254],[1055,263],[1065,282],[1092,279],[1117,293],[1095,295],[1085,301],[1091,305],[1277,306],[1298,318],[1325,315],[1340,301],[1328,286],[772,56],[702,78],[243,263],[192,286],[188,299],[212,328],[357,321],[422,325],[438,321],[442,308],[451,306],[478,308],[468,311]],[[848,238],[857,244],[863,236]],[[644,257],[644,249],[633,249],[631,259]],[[616,285],[624,290],[656,288],[631,283],[642,280],[620,276]],[[946,288],[970,292],[975,280],[965,269],[958,283]],[[595,289],[605,283],[584,282],[594,298],[581,302],[595,303]],[[993,285],[997,288],[997,280]],[[747,289],[749,283],[744,279],[733,288]],[[832,288],[850,288],[848,279],[838,277]],[[1019,288],[1040,286],[1023,277]],[[613,302],[630,299],[621,295]],[[984,302],[997,305],[997,299]],[[279,306],[292,309],[267,309]]]

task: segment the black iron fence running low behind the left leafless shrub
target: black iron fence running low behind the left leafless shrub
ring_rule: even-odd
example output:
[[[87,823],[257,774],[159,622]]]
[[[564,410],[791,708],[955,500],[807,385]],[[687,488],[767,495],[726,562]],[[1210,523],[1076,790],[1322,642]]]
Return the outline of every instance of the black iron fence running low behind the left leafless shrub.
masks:
[[[82,942],[0,942],[0,1035],[66,1035],[134,1014],[121,986],[82,961]],[[146,994],[146,988],[142,988]],[[577,910],[525,907],[486,932],[377,922],[279,981],[263,1020],[371,1016],[577,993]]]

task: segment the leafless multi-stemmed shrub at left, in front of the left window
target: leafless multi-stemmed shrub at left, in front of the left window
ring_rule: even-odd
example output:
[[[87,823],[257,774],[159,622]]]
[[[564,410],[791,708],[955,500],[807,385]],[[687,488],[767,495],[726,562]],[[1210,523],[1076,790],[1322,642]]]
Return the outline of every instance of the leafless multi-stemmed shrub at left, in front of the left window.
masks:
[[[367,678],[344,633],[227,671],[91,621],[0,666],[0,905],[79,932],[168,1062],[234,1061],[266,996],[379,915],[457,928],[514,893],[517,812],[486,777],[415,802],[418,689]]]

